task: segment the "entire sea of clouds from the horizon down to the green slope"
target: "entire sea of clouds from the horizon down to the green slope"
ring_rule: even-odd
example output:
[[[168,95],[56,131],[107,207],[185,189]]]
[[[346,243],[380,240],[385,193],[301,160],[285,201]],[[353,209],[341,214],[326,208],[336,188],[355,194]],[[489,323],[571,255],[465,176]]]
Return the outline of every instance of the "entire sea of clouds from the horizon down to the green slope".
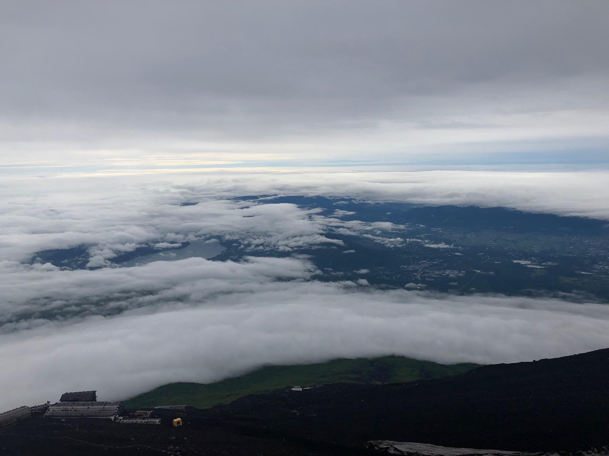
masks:
[[[298,249],[340,249],[327,233],[375,224],[242,199],[321,195],[609,220],[607,171],[21,175],[4,176],[0,191],[0,390],[11,392],[0,408],[82,389],[124,399],[264,364],[383,354],[517,362],[609,347],[604,305],[319,282]],[[238,240],[245,256],[111,263],[138,246],[195,239]],[[82,244],[94,269],[32,263],[35,252]]]

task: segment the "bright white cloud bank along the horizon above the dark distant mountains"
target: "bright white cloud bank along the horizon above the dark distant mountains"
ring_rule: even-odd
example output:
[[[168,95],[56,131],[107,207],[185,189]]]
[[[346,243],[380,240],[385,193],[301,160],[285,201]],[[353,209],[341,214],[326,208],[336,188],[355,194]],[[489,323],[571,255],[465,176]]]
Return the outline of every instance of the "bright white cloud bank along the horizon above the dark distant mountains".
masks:
[[[183,178],[185,178],[184,176]],[[181,192],[342,196],[440,206],[509,207],[609,220],[609,171],[292,171],[243,176],[226,173]]]

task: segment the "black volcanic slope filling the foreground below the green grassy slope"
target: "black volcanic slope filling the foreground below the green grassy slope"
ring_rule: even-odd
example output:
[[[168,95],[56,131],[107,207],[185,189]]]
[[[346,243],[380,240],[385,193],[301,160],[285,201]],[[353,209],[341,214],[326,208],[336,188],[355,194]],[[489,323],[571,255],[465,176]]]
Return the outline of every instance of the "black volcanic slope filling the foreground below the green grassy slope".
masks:
[[[213,409],[155,410],[161,426],[37,416],[0,429],[0,455],[375,455],[368,440],[520,451],[609,446],[609,349],[403,384],[330,384]],[[171,426],[180,416],[185,425]]]

